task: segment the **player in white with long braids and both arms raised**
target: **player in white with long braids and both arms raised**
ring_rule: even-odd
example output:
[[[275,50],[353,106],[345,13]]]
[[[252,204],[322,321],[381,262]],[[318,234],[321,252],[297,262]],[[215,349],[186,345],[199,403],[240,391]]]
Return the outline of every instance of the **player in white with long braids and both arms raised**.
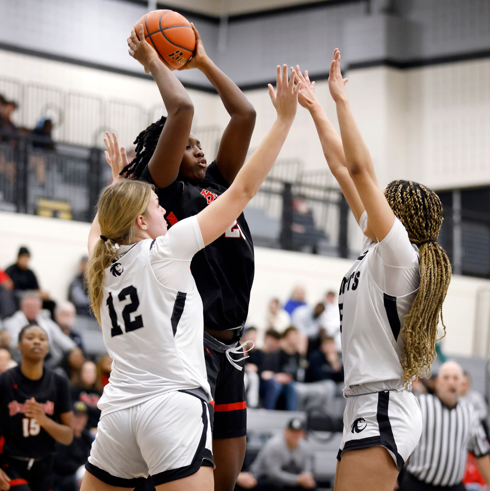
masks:
[[[392,491],[421,435],[411,381],[426,376],[434,359],[451,279],[449,259],[437,244],[442,205],[414,182],[381,189],[349,107],[338,50],[328,85],[342,139],[318,104],[315,82],[299,66],[296,78],[303,82],[299,103],[310,111],[330,170],[364,233],[339,293],[347,404],[334,489]]]

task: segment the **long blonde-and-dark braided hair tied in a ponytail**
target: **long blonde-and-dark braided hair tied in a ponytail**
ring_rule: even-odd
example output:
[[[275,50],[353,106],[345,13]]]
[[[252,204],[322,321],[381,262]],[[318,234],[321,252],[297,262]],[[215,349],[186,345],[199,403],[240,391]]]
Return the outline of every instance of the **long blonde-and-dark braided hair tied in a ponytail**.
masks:
[[[395,216],[403,223],[410,242],[418,246],[420,286],[410,312],[405,316],[401,336],[404,340],[403,382],[427,377],[435,358],[437,324],[442,319],[442,302],[451,281],[451,265],[437,243],[442,225],[442,204],[434,191],[411,181],[392,181],[384,195]]]

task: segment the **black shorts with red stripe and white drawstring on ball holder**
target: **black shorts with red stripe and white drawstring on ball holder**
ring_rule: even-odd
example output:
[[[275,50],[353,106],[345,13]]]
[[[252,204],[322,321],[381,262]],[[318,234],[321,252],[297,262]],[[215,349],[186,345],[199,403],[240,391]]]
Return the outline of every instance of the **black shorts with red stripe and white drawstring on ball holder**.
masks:
[[[247,403],[245,401],[243,354],[229,353],[236,365],[228,360],[226,352],[237,343],[225,345],[204,332],[204,359],[207,381],[211,386],[214,406],[211,418],[213,438],[235,438],[247,434]],[[211,412],[211,411],[210,411]]]

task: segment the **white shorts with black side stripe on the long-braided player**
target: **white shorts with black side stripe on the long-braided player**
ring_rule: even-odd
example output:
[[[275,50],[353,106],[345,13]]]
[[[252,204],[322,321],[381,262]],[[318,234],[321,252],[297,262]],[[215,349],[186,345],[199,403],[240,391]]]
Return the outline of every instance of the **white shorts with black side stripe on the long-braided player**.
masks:
[[[344,436],[337,459],[349,450],[385,447],[401,470],[422,434],[422,413],[408,390],[347,397]]]

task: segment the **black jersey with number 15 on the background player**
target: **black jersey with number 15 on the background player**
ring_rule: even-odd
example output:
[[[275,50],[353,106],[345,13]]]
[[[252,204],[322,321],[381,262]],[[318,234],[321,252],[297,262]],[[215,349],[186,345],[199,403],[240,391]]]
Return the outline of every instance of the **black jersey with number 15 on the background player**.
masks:
[[[25,402],[33,397],[44,405],[48,417],[59,422],[71,411],[68,381],[44,367],[39,380],[25,377],[20,366],[0,374],[0,453],[39,459],[55,452],[55,439],[34,418],[24,415]]]

